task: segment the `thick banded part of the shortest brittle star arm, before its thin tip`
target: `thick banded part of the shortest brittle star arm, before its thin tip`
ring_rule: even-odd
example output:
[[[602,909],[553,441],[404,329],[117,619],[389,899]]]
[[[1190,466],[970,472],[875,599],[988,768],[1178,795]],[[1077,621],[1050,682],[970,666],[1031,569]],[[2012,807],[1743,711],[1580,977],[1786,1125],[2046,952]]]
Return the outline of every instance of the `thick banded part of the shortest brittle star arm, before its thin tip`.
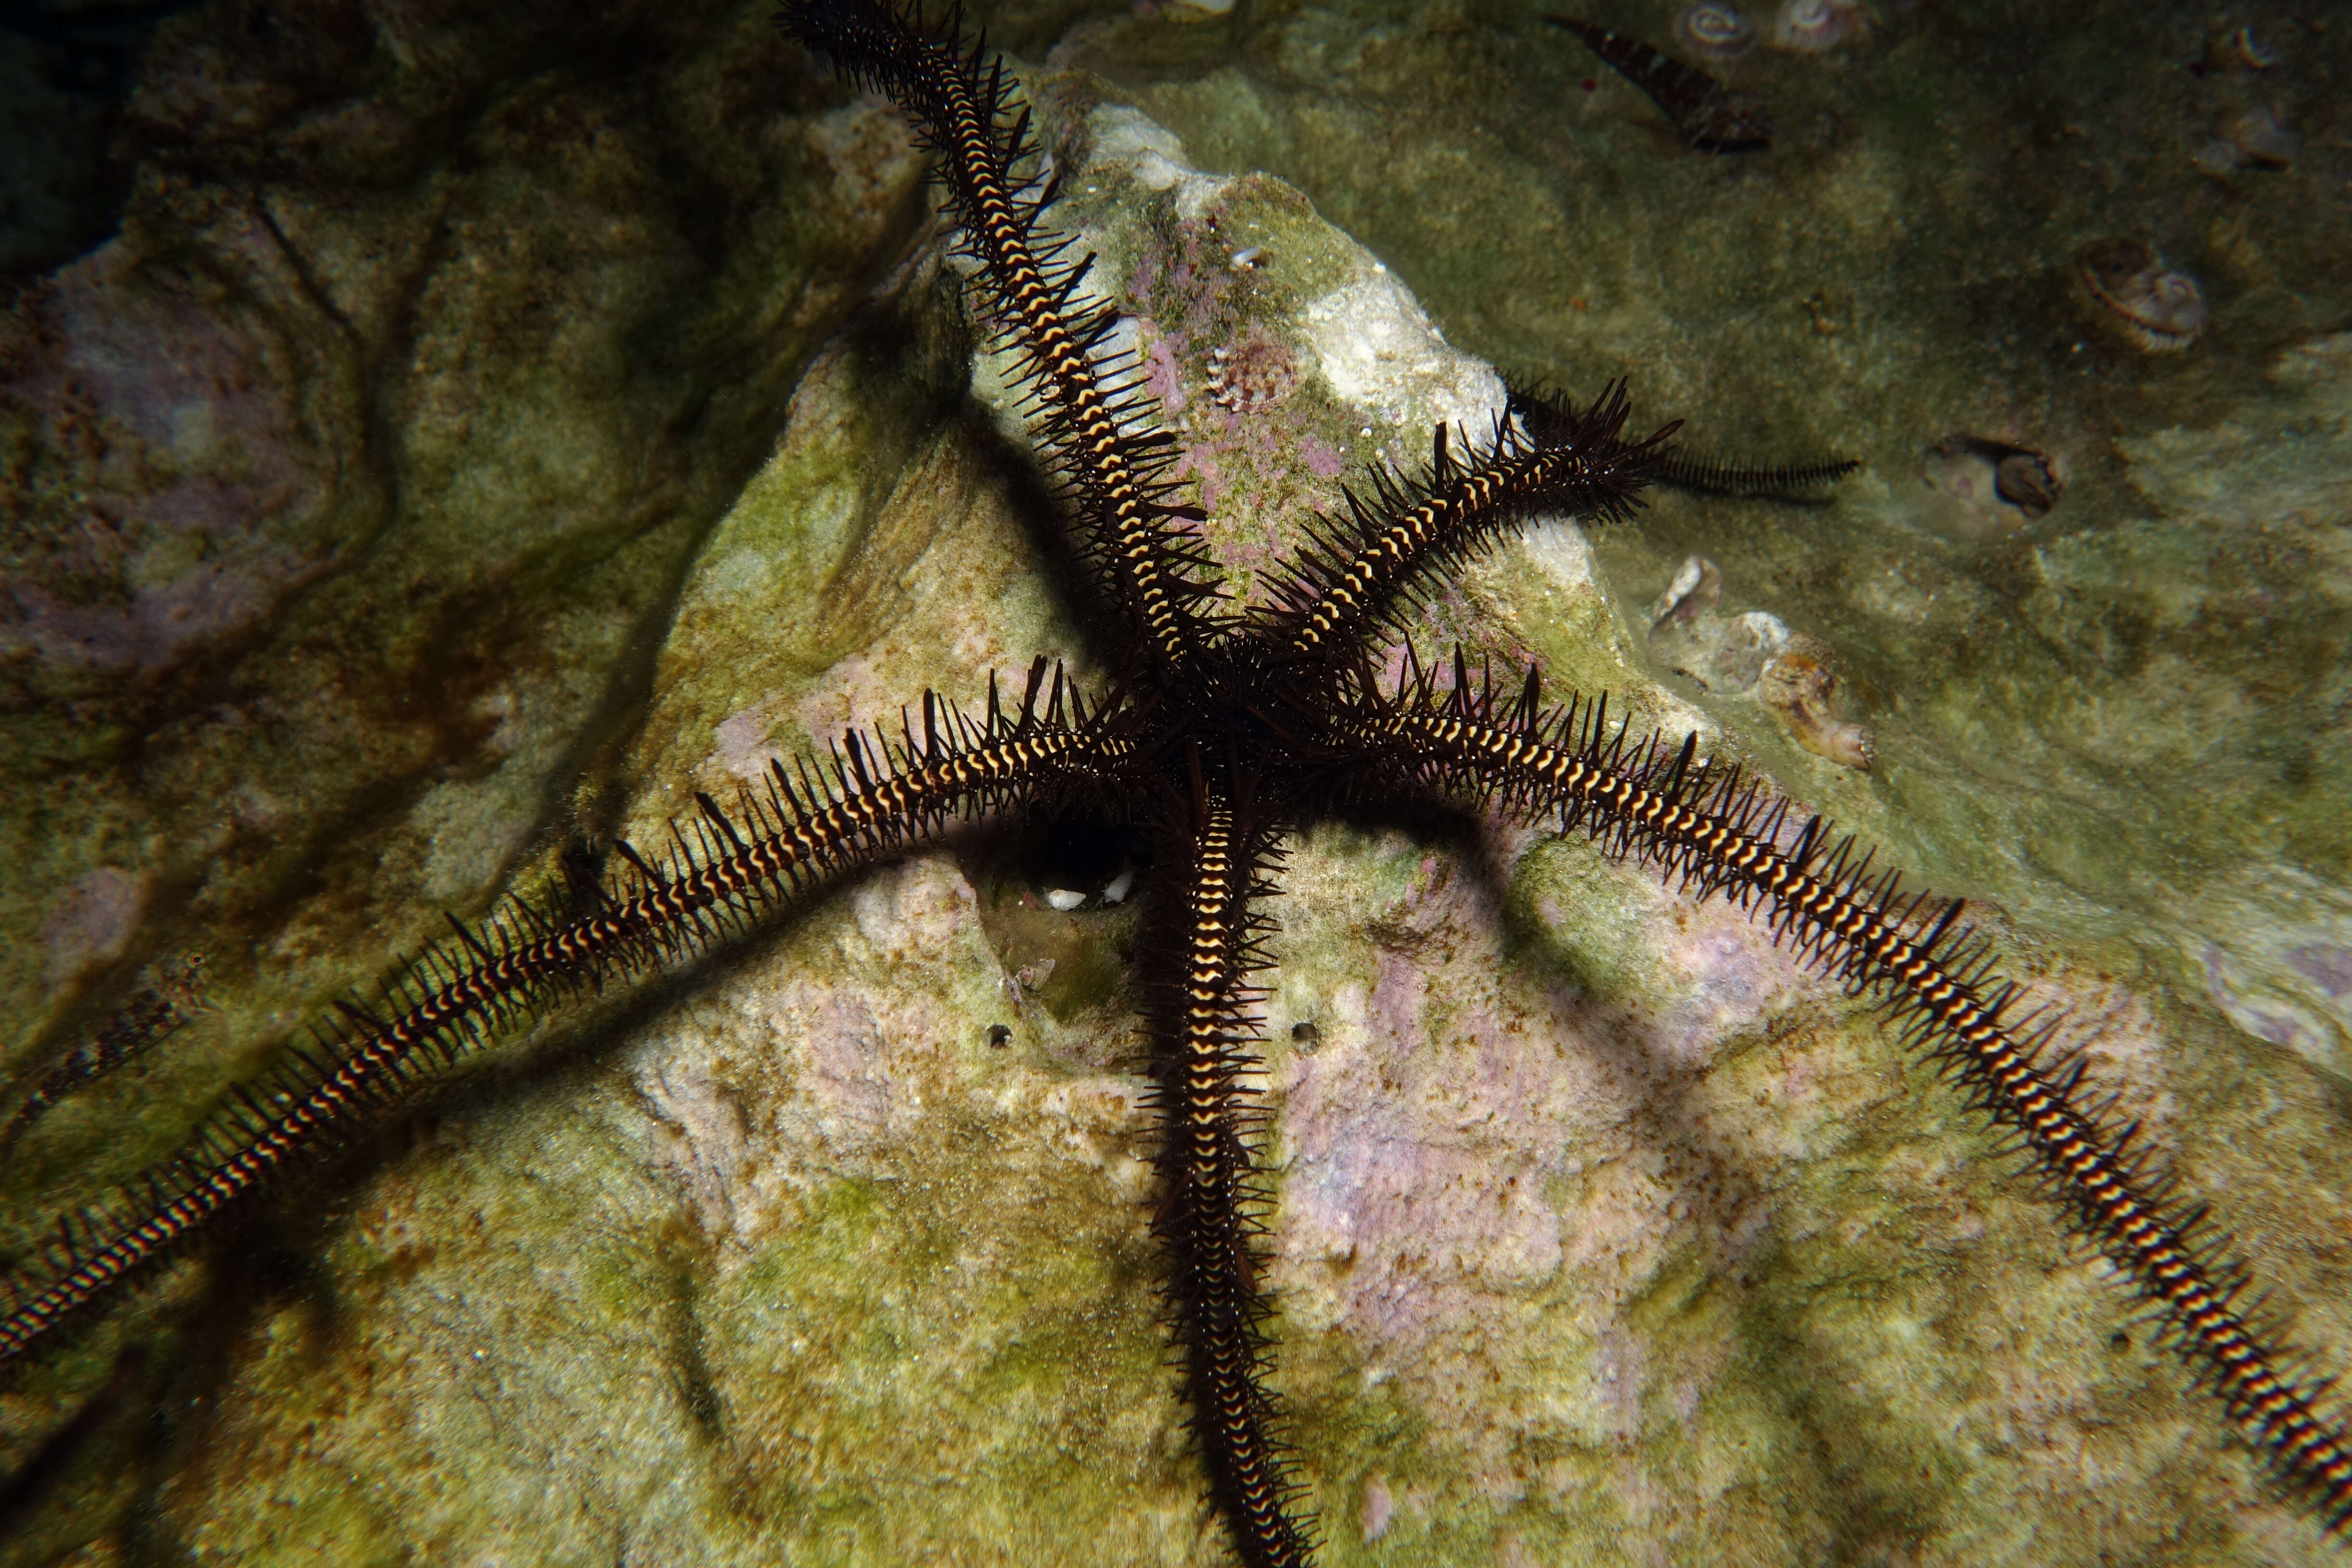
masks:
[[[1526,517],[1630,517],[1672,425],[1628,442],[1628,414],[1625,388],[1611,386],[1564,421],[1536,428],[1503,418],[1468,463],[1454,458],[1439,425],[1421,480],[1381,473],[1369,503],[1348,494],[1352,522],[1315,534],[1277,578],[1265,630],[1289,661],[1338,668],[1371,644],[1421,578],[1470,562]]]

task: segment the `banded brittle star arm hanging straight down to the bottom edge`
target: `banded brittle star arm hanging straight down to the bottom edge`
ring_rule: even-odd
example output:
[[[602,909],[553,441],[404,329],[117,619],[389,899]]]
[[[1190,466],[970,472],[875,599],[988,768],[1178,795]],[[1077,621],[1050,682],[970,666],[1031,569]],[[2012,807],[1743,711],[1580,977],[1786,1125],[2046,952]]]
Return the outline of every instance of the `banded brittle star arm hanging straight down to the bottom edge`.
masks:
[[[1223,780],[1192,776],[1183,879],[1162,919],[1181,940],[1160,945],[1183,973],[1157,978],[1152,1044],[1162,1119],[1157,1234],[1171,1260],[1169,1316],[1183,1354],[1192,1432],[1209,1467],[1209,1490],[1251,1568],[1301,1568],[1312,1533],[1296,1519],[1284,1474],[1279,1401],[1265,1389],[1265,1295],[1258,1291],[1261,1192],[1254,1145],[1263,1112],[1251,1110],[1261,1039],[1258,992],[1249,976],[1268,966],[1258,938],[1270,929],[1254,903],[1272,898],[1275,851],[1247,802]]]

